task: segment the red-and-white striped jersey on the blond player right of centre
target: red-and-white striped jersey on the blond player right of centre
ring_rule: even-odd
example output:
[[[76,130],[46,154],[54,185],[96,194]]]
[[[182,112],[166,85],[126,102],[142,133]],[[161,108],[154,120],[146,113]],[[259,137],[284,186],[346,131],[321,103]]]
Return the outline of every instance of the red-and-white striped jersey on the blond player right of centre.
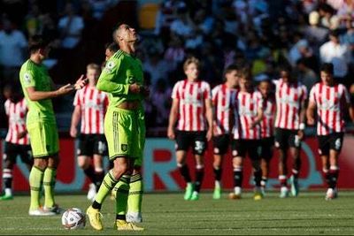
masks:
[[[207,129],[205,99],[212,99],[211,88],[207,82],[180,80],[173,87],[172,98],[179,100],[177,130],[204,131]]]

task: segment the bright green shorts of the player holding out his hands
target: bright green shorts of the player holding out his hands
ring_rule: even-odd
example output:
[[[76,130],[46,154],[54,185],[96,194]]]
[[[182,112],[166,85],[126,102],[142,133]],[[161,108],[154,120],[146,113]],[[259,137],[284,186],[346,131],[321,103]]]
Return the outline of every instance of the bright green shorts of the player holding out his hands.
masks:
[[[55,123],[35,122],[27,124],[34,158],[57,155],[59,152],[58,128]]]

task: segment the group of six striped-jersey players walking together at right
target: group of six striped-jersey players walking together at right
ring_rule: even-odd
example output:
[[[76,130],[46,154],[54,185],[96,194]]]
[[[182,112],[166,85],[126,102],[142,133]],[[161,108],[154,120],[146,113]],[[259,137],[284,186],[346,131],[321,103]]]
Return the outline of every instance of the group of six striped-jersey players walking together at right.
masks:
[[[279,153],[280,197],[288,197],[289,192],[297,196],[306,121],[309,126],[317,124],[319,156],[328,186],[326,200],[337,197],[344,117],[349,110],[354,120],[354,112],[347,88],[334,78],[332,64],[321,65],[320,82],[313,86],[309,98],[307,89],[292,76],[289,67],[281,68],[279,80],[261,80],[256,86],[248,68],[230,65],[225,70],[225,82],[211,90],[206,81],[198,79],[198,66],[196,58],[187,59],[184,64],[187,79],[174,85],[167,132],[168,137],[176,141],[177,165],[187,183],[185,200],[199,199],[204,178],[204,151],[211,140],[214,199],[221,195],[222,160],[229,146],[234,169],[234,191],[229,198],[241,198],[246,156],[250,157],[252,165],[254,200],[264,197],[273,147]],[[189,147],[196,159],[194,182],[186,164]],[[290,173],[288,156],[293,161]]]

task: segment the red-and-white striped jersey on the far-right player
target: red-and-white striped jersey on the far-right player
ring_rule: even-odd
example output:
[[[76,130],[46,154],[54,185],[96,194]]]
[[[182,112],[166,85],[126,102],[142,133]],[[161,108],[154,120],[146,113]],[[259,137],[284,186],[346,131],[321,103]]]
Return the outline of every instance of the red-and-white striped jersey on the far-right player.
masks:
[[[342,84],[329,87],[315,84],[310,92],[310,102],[317,105],[317,134],[344,132],[344,108],[350,103],[350,95]]]

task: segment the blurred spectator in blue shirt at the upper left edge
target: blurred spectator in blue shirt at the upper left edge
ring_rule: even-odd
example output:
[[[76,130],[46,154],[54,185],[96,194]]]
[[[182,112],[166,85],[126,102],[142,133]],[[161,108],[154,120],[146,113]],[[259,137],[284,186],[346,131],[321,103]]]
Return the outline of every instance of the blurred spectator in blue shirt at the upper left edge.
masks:
[[[7,81],[19,80],[19,67],[25,60],[27,40],[25,35],[16,29],[10,19],[3,19],[3,29],[0,31],[0,88]]]

